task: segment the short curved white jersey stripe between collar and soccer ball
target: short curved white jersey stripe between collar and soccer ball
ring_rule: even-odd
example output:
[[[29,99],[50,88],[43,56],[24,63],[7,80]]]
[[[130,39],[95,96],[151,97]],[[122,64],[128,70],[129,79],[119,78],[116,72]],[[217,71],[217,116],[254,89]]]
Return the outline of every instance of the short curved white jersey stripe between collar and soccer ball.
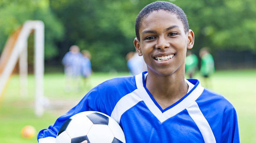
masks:
[[[122,97],[116,104],[114,110],[111,113],[111,117],[119,124],[122,114],[142,101],[139,90],[136,89],[132,93],[129,93]]]

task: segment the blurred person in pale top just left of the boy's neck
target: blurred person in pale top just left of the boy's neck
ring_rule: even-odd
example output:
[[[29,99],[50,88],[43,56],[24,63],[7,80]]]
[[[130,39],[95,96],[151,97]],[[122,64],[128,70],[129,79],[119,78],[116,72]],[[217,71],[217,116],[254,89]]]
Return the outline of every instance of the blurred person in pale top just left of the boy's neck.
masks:
[[[137,52],[127,53],[126,60],[130,75],[138,75],[147,71],[147,66],[143,57],[139,56]]]

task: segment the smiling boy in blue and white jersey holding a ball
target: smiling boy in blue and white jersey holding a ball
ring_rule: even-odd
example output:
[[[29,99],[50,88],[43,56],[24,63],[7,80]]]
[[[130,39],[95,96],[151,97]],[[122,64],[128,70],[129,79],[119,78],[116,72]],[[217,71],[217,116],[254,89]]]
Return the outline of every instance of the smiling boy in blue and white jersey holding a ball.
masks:
[[[69,117],[88,110],[114,118],[127,143],[239,142],[233,106],[198,80],[184,79],[186,50],[193,47],[194,33],[180,7],[163,1],[147,5],[137,16],[136,36],[134,46],[148,72],[99,84],[41,130],[39,142],[54,142]]]

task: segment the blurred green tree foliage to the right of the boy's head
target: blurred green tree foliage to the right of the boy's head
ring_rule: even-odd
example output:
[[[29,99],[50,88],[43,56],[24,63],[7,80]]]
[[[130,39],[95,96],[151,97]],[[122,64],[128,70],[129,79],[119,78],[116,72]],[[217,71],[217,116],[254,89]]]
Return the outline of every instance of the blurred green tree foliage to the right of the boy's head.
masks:
[[[195,32],[197,51],[213,49],[256,52],[255,0],[176,0]]]

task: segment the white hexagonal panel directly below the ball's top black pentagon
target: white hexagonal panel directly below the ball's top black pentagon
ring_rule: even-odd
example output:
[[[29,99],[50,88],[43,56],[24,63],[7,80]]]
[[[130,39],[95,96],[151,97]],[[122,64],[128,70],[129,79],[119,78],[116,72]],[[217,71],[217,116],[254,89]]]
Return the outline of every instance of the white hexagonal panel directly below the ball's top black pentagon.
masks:
[[[94,124],[87,134],[90,143],[111,143],[114,135],[107,125]]]

